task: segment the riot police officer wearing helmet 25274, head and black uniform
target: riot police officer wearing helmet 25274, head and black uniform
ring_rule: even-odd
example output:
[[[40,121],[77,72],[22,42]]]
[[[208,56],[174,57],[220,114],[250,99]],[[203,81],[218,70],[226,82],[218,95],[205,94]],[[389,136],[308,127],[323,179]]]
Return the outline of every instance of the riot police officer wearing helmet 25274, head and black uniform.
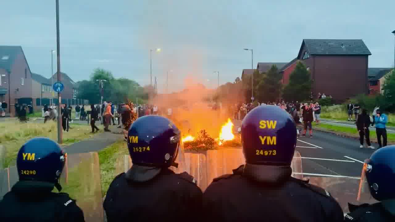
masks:
[[[188,173],[169,169],[183,154],[179,129],[148,115],[133,122],[127,141],[133,165],[109,186],[103,203],[108,222],[198,221],[200,188]]]

